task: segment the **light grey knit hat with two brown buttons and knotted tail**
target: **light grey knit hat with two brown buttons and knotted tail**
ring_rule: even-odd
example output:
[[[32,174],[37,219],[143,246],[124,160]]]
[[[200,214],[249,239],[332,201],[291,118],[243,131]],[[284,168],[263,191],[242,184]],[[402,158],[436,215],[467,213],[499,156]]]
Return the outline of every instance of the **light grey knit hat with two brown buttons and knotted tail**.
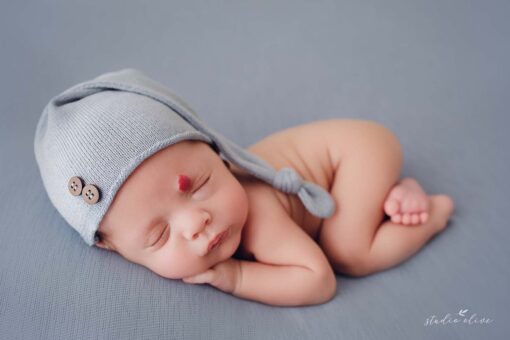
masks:
[[[115,194],[145,159],[200,140],[274,188],[297,194],[315,216],[333,214],[327,191],[267,162],[208,127],[167,87],[136,69],[102,74],[55,96],[37,124],[34,151],[50,201],[92,246]]]

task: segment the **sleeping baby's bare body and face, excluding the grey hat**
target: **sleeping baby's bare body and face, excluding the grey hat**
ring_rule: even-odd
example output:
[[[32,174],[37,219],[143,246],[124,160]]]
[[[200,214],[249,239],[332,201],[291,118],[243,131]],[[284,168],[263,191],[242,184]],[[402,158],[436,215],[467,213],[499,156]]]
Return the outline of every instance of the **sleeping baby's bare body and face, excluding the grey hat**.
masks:
[[[295,196],[224,164],[208,144],[187,141],[134,171],[96,245],[163,277],[273,305],[305,305],[335,295],[334,271],[360,276],[402,262],[452,213],[450,197],[428,196],[412,178],[397,182],[399,142],[374,122],[310,123],[248,150],[328,189],[340,209],[316,218]]]

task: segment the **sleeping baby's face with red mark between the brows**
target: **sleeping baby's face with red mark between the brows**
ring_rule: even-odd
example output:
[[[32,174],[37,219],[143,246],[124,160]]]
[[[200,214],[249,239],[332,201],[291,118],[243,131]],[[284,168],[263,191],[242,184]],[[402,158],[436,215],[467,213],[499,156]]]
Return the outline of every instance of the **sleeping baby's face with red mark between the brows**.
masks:
[[[189,189],[183,176],[191,180]],[[128,177],[100,224],[109,241],[96,245],[180,279],[231,257],[247,214],[245,189],[219,155],[204,142],[183,141],[152,155]],[[223,242],[208,251],[225,230]]]

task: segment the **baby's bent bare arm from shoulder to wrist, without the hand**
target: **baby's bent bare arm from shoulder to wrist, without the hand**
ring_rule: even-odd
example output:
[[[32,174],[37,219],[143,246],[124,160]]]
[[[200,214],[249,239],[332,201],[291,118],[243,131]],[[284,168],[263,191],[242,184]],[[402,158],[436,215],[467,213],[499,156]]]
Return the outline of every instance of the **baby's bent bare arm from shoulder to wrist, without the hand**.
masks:
[[[336,277],[324,252],[286,211],[275,209],[275,196],[263,190],[251,194],[244,243],[257,262],[240,261],[241,278],[233,294],[281,306],[331,299]]]

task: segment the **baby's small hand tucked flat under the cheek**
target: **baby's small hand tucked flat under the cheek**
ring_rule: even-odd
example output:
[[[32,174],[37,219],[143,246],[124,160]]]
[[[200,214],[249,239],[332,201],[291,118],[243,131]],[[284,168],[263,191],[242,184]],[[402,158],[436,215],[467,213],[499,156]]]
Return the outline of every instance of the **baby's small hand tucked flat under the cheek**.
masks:
[[[208,283],[226,293],[232,294],[241,280],[241,263],[229,258],[203,273],[183,278],[186,283]]]

